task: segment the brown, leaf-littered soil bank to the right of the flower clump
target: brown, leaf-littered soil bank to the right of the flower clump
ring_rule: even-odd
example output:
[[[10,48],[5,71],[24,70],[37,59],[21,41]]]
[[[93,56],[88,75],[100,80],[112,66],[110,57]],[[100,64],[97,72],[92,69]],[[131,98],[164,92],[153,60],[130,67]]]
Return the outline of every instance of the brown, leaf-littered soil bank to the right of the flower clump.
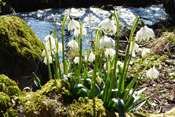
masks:
[[[171,24],[171,25],[167,25]],[[161,25],[161,27],[159,27]],[[148,42],[144,42],[139,44],[139,47],[145,47],[145,48],[151,48],[154,49],[154,43],[156,43],[158,40],[163,39],[163,37],[159,37],[162,33],[163,29],[164,31],[168,31],[169,27],[171,26],[171,34],[175,37],[175,25],[171,22],[159,22],[154,25],[154,30],[156,30],[156,38],[149,40]],[[174,27],[174,28],[172,28]],[[166,34],[166,33],[165,33]],[[168,33],[169,34],[169,33]],[[127,43],[121,43],[120,47],[126,47]],[[175,108],[175,43],[169,42],[169,45],[167,43],[158,43],[158,45],[161,48],[156,49],[156,52],[154,51],[152,55],[167,55],[167,60],[161,61],[164,65],[160,67],[156,67],[156,69],[159,71],[159,77],[157,79],[149,79],[146,77],[146,74],[143,76],[139,88],[147,87],[147,89],[143,92],[143,94],[146,94],[147,96],[150,96],[152,94],[158,93],[160,91],[166,90],[165,92],[156,95],[149,100],[147,100],[146,104],[142,106],[141,109],[139,109],[139,112],[143,113],[165,113],[170,111],[171,109]],[[124,48],[120,48],[120,51]],[[140,57],[140,55],[138,54]],[[138,56],[136,58],[138,58]],[[121,57],[123,55],[121,54]],[[173,74],[174,75],[171,75]],[[129,80],[129,79],[128,79]],[[130,80],[128,81],[130,82]]]

